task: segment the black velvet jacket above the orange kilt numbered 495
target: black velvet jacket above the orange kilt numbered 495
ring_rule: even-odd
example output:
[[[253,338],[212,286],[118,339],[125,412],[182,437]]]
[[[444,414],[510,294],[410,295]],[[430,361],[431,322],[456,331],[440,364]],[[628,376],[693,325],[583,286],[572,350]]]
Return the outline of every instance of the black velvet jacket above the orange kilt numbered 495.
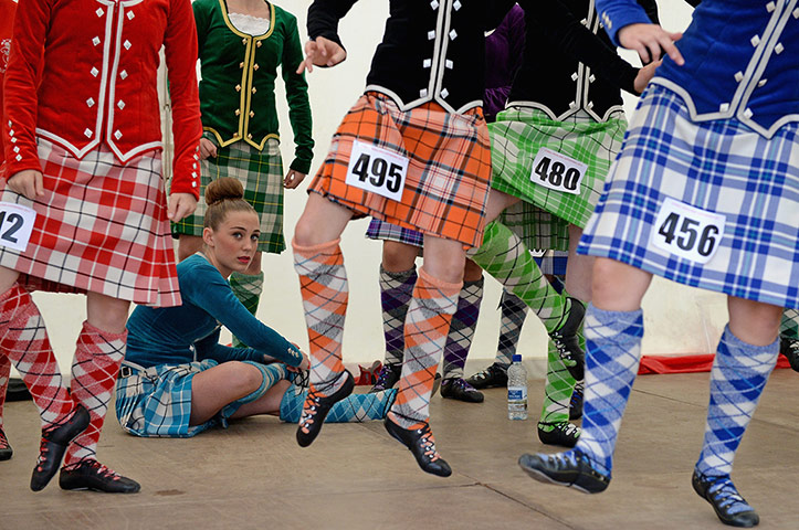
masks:
[[[338,21],[357,0],[315,0],[308,35],[341,44]],[[374,1],[374,0],[372,0]],[[548,1],[548,0],[547,0]],[[500,25],[513,0],[390,0],[367,91],[402,109],[434,100],[451,113],[482,106],[485,31]]]

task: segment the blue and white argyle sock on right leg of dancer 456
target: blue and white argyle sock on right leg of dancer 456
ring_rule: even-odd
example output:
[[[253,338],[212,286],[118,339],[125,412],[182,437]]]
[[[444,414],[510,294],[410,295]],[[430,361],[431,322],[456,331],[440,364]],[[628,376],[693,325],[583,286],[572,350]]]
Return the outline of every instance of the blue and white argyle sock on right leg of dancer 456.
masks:
[[[729,327],[724,329],[711,371],[711,404],[697,471],[708,477],[733,471],[735,451],[778,356],[779,340],[751,346],[735,337]]]

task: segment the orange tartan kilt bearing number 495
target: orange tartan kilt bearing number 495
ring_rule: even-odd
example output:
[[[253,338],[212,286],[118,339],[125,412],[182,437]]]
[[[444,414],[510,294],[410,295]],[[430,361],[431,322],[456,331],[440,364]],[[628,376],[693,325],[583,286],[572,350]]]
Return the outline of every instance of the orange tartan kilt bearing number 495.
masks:
[[[402,201],[346,184],[355,139],[409,159]],[[490,180],[491,145],[480,109],[453,114],[428,103],[402,112],[369,92],[341,121],[308,189],[356,214],[480,246]]]

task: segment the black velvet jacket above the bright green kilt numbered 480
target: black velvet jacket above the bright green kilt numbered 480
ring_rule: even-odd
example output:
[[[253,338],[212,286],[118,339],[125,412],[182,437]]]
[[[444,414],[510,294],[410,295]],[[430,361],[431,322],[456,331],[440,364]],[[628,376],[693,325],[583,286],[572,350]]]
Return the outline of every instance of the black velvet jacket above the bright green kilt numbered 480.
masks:
[[[654,0],[638,0],[658,23]],[[619,89],[638,95],[638,68],[621,59],[602,29],[593,0],[523,0],[525,56],[508,105],[534,106],[561,120],[585,110],[604,121],[621,109]]]

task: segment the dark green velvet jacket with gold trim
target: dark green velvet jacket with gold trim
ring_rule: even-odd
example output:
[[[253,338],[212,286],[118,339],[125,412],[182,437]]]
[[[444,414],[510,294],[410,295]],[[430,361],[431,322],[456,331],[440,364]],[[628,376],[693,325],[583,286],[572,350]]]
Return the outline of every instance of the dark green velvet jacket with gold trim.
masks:
[[[295,73],[303,60],[296,18],[270,3],[269,31],[251,36],[230,22],[224,0],[196,0],[192,7],[202,74],[202,128],[221,147],[243,140],[261,150],[267,139],[280,139],[275,108],[280,66],[296,145],[291,168],[307,173],[314,140],[308,84],[304,74]]]

